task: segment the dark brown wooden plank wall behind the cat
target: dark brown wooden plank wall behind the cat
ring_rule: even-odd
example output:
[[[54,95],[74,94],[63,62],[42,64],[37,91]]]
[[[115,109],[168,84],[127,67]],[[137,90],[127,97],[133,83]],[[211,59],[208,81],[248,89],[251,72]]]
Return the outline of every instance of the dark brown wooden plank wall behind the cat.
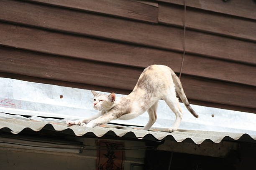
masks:
[[[0,77],[128,94],[148,65],[179,74],[183,3],[1,0]],[[255,1],[186,4],[189,101],[256,113]]]

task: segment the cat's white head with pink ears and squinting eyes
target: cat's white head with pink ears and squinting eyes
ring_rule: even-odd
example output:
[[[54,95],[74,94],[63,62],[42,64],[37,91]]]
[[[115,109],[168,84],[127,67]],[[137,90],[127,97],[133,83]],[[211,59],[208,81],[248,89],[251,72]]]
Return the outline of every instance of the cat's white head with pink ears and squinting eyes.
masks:
[[[107,112],[113,107],[115,103],[115,93],[112,92],[109,95],[102,95],[93,90],[91,90],[91,92],[94,95],[93,108],[95,110]]]

